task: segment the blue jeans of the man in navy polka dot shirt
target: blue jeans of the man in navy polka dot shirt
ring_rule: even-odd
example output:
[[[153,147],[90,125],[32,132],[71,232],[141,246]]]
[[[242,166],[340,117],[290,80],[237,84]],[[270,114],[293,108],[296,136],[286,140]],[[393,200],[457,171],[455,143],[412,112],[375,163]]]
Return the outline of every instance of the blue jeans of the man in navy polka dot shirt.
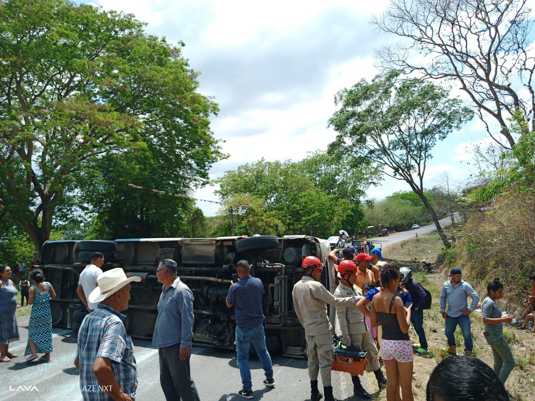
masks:
[[[253,388],[251,367],[249,365],[251,342],[255,346],[258,358],[260,358],[266,379],[273,379],[273,366],[271,365],[271,357],[266,348],[264,325],[261,323],[250,330],[242,330],[239,326],[236,326],[236,353],[238,354],[238,366],[240,367],[241,382],[244,389]]]

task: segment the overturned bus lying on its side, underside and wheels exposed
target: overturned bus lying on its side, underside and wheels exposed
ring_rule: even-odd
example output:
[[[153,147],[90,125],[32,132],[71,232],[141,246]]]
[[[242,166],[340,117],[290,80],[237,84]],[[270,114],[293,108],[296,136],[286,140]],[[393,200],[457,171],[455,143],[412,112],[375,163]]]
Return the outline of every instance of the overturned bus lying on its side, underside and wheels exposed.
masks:
[[[95,251],[104,253],[103,271],[124,268],[127,275],[139,275],[133,282],[131,300],[125,312],[126,329],[133,337],[151,338],[156,322],[162,284],[157,282],[160,260],[173,259],[178,274],[194,294],[196,345],[234,348],[233,309],[225,305],[236,263],[246,259],[251,275],[264,284],[263,309],[266,343],[270,350],[288,356],[305,354],[304,331],[294,312],[292,289],[303,275],[301,261],[317,256],[325,266],[324,286],[334,290],[334,270],[327,263],[330,244],[306,235],[277,238],[142,238],[116,241],[48,241],[43,245],[41,267],[56,289],[51,301],[53,325],[76,333],[85,316],[76,289],[80,272]]]

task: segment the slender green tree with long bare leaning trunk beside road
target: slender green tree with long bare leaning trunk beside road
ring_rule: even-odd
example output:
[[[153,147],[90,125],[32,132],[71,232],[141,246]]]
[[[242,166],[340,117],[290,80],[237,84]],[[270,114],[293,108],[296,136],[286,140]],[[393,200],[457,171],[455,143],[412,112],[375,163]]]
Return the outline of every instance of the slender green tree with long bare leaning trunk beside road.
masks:
[[[339,133],[330,150],[349,149],[356,163],[378,162],[378,170],[405,181],[431,214],[446,248],[448,238],[424,194],[424,174],[431,150],[453,129],[460,128],[472,113],[459,99],[432,83],[400,79],[389,71],[372,82],[361,80],[336,97],[341,108],[330,125]]]

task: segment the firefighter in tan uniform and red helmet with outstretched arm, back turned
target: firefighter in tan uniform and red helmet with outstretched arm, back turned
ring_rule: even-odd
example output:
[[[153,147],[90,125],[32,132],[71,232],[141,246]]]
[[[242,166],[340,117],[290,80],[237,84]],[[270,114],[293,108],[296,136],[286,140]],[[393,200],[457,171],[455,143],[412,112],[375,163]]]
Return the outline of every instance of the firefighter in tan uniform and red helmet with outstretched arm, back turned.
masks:
[[[331,385],[331,367],[334,361],[331,322],[327,318],[327,304],[355,307],[358,298],[336,298],[319,282],[322,263],[315,256],[307,256],[301,264],[303,278],[295,283],[292,291],[294,309],[304,328],[307,340],[308,375],[310,377],[310,400],[322,398],[318,390],[318,373],[322,375],[325,401],[336,401]]]

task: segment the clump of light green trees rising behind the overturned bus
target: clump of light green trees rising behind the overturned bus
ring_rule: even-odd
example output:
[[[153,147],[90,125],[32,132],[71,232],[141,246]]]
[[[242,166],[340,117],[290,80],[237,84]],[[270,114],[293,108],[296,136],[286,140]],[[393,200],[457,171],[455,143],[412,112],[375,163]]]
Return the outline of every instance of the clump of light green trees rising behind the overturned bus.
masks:
[[[225,227],[232,234],[319,237],[333,235],[342,226],[358,230],[363,213],[357,194],[362,193],[363,180],[350,171],[340,174],[330,165],[333,162],[325,153],[317,153],[299,162],[261,159],[226,172],[218,190],[225,204],[221,210]],[[342,182],[341,189],[337,182]]]

